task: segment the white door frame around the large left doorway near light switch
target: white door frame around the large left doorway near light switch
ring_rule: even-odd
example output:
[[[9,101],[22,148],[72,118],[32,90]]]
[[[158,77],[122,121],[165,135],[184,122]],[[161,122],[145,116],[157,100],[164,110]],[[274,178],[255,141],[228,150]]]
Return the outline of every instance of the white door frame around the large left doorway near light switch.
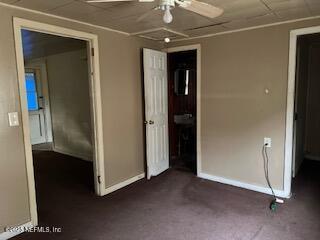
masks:
[[[36,21],[26,20],[22,18],[13,18],[14,39],[16,47],[16,60],[18,71],[18,83],[20,94],[20,105],[22,114],[22,128],[23,138],[25,145],[26,155],[26,168],[28,178],[28,191],[29,191],[29,205],[31,222],[33,226],[38,225],[37,216],[37,203],[35,191],[35,179],[33,169],[33,157],[30,143],[30,129],[29,129],[29,116],[27,109],[27,97],[25,89],[25,76],[24,76],[24,58],[22,48],[21,30],[31,30],[41,33],[53,34],[62,37],[75,38],[85,40],[89,43],[90,49],[94,49],[94,56],[90,58],[90,65],[92,77],[90,79],[90,95],[92,107],[92,123],[93,123],[93,144],[94,144],[94,176],[95,176],[95,190],[96,194],[102,196],[105,189],[105,175],[104,175],[104,149],[103,149],[103,125],[102,125],[102,106],[101,106],[101,88],[100,88],[100,69],[99,69],[99,49],[98,49],[98,36],[76,31],[55,25],[39,23]]]

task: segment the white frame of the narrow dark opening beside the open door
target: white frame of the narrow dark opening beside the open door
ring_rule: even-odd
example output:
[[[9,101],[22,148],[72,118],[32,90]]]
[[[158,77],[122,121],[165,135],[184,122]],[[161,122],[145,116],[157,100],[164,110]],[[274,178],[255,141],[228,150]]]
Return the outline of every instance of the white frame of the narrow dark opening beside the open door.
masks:
[[[202,172],[201,165],[201,45],[193,44],[187,46],[179,46],[164,49],[167,53],[182,52],[196,50],[197,51],[197,176],[200,177]]]

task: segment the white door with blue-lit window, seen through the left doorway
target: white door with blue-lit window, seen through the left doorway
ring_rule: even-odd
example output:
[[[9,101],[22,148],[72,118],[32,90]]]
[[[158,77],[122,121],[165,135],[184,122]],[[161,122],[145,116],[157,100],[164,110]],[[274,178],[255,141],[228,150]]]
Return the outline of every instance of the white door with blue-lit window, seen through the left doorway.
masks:
[[[44,118],[44,99],[41,90],[40,74],[27,69],[25,73],[27,102],[29,111],[31,144],[46,142],[46,126]]]

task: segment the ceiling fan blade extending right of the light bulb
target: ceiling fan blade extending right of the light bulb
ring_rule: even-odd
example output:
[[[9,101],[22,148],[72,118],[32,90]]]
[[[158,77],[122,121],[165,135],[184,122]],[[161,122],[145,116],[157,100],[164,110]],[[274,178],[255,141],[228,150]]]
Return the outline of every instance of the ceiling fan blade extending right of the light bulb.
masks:
[[[181,4],[179,6],[188,11],[195,12],[208,18],[215,18],[223,13],[223,9],[221,8],[217,8],[208,3],[199,2],[196,0],[191,0],[190,4]]]

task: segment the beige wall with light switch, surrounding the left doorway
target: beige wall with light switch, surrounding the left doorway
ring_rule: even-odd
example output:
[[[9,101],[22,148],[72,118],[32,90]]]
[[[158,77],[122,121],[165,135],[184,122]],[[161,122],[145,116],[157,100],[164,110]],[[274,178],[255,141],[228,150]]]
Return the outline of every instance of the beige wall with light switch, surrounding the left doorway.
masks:
[[[144,172],[140,48],[158,47],[103,29],[0,7],[0,231],[30,219],[22,127],[10,128],[7,120],[8,112],[21,115],[13,16],[98,35],[107,186]]]

